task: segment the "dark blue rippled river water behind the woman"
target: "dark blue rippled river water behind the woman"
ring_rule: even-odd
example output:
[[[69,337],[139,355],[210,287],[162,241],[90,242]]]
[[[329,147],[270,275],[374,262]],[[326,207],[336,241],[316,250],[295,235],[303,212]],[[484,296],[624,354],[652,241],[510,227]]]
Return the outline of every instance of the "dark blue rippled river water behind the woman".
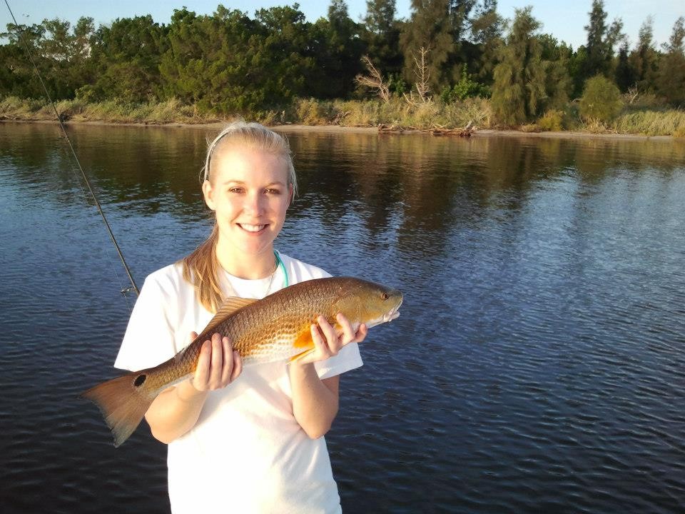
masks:
[[[206,236],[206,129],[69,131],[138,284]],[[683,143],[289,137],[278,248],[405,293],[342,378],[343,510],[684,511]],[[76,398],[135,297],[65,148],[0,124],[1,510],[163,513],[164,446]]]

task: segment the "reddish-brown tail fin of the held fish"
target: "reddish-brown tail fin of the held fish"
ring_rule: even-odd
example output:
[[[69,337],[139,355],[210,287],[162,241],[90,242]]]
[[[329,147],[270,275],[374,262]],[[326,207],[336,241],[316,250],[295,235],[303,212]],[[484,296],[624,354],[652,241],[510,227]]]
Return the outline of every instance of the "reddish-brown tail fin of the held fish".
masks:
[[[81,393],[81,398],[91,400],[100,409],[116,447],[136,430],[156,397],[139,387],[140,377],[140,373],[129,373]]]

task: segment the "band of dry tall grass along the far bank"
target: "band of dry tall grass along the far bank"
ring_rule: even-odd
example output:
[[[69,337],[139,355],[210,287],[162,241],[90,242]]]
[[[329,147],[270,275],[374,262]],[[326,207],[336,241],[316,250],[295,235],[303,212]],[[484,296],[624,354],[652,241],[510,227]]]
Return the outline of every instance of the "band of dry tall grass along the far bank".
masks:
[[[56,104],[62,119],[71,121],[108,121],[113,123],[168,124],[213,123],[225,116],[183,104],[177,99],[131,103],[118,99],[87,102],[83,99],[62,100]],[[404,99],[380,100],[317,100],[295,99],[285,109],[247,115],[265,124],[295,123],[305,125],[377,126],[378,124],[404,128],[446,129],[464,127],[470,122],[479,129],[494,128],[489,99],[472,98],[443,104],[408,104]],[[230,117],[230,116],[228,116]],[[44,101],[19,99],[15,96],[0,99],[0,119],[54,120],[51,106]],[[574,130],[602,133],[639,133],[648,136],[685,137],[685,111],[666,109],[662,105],[631,104],[613,121],[606,123],[582,122],[577,108],[569,105],[564,111],[549,111],[537,124],[519,127],[522,131]]]

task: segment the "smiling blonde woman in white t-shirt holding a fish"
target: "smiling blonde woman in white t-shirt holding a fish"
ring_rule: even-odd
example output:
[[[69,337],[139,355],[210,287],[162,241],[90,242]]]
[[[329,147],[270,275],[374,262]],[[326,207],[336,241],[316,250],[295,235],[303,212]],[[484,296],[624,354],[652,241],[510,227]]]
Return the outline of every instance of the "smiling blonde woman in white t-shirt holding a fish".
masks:
[[[214,139],[202,191],[215,213],[207,241],[146,278],[115,366],[156,366],[183,349],[228,296],[263,298],[328,273],[283,255],[274,240],[296,190],[288,142],[258,124]],[[320,316],[316,351],[293,363],[243,368],[229,338],[205,341],[193,378],[163,391],[146,413],[168,444],[173,513],[340,512],[323,438],[338,412],[340,373],[362,365],[355,332]]]

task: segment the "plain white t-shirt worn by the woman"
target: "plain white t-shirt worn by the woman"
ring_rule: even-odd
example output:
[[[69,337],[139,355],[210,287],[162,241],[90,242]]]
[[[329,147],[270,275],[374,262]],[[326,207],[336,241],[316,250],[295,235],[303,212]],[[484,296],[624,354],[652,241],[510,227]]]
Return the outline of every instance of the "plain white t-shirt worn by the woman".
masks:
[[[279,254],[288,282],[328,273]],[[244,280],[222,270],[223,291],[262,298],[269,278]],[[269,292],[285,286],[283,268]],[[136,371],[157,366],[191,342],[212,318],[183,280],[181,265],[146,278],[114,366]],[[320,378],[362,366],[357,343],[315,363]],[[324,438],[312,440],[293,415],[288,364],[245,366],[228,387],[211,391],[195,427],[168,445],[173,513],[340,513]]]

